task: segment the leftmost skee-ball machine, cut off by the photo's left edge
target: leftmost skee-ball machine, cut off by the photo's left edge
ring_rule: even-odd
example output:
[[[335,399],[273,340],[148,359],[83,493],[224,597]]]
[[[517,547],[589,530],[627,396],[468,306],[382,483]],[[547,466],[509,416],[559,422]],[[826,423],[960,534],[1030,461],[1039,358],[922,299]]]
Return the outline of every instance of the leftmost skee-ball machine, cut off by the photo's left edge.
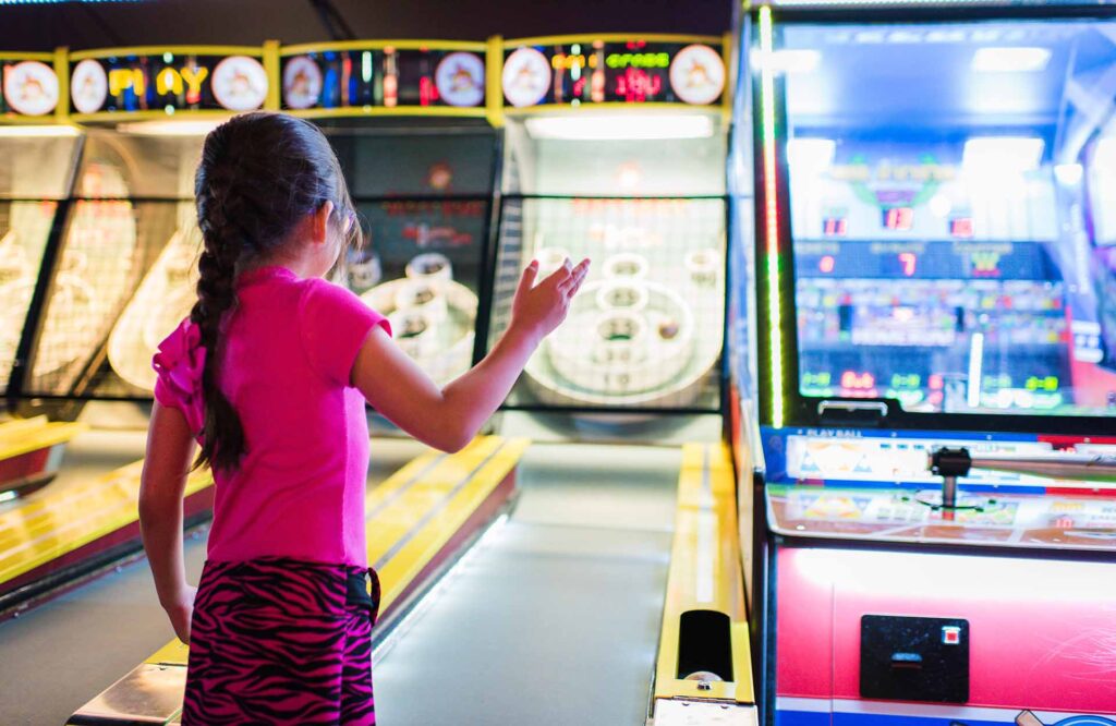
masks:
[[[55,220],[65,213],[81,135],[66,123],[64,54],[0,54],[0,395],[32,308]],[[61,448],[80,427],[3,417],[0,500],[49,480]]]

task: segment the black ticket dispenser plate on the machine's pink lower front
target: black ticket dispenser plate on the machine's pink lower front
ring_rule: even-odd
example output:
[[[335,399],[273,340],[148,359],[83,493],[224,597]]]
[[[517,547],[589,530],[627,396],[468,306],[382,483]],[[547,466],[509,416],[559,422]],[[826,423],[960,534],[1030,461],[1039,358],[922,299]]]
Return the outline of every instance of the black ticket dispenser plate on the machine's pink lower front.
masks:
[[[969,621],[860,618],[860,696],[963,704],[969,700]]]

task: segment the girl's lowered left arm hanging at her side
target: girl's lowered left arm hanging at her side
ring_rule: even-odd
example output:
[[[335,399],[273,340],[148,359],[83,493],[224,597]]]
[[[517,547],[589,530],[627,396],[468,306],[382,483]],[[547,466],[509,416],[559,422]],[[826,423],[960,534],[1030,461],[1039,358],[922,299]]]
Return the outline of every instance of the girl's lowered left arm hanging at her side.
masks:
[[[190,642],[195,589],[186,584],[182,558],[182,495],[193,455],[194,439],[186,418],[156,401],[140,479],[140,532],[158,602],[184,643]]]

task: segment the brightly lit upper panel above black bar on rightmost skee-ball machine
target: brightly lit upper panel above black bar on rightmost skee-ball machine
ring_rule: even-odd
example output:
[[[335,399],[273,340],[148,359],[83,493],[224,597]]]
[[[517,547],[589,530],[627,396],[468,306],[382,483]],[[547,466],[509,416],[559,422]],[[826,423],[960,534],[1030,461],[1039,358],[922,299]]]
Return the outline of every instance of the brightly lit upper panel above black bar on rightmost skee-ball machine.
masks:
[[[720,195],[727,149],[708,112],[539,115],[509,120],[507,193]],[[647,138],[633,138],[647,134]]]

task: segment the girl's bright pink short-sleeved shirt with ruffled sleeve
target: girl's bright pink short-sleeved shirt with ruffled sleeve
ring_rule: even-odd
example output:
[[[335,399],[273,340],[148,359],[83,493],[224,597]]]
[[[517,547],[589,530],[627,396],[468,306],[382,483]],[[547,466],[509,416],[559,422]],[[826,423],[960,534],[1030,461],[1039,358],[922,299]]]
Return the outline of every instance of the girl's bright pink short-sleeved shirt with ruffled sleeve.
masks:
[[[237,288],[218,378],[247,452],[238,469],[214,475],[209,557],[366,567],[368,420],[349,372],[373,325],[391,334],[387,319],[344,287],[282,267],[246,273]],[[155,399],[192,428],[200,428],[205,353],[196,340],[196,326],[183,321],[155,356]]]

